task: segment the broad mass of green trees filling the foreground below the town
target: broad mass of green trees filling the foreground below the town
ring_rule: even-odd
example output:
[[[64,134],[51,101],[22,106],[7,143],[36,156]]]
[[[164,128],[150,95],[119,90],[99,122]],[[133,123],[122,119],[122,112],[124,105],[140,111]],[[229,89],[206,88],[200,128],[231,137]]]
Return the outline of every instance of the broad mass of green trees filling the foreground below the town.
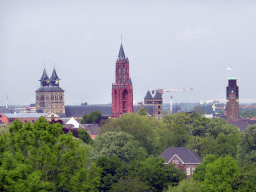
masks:
[[[87,117],[86,117],[87,118]],[[96,118],[95,118],[96,119]],[[243,133],[224,119],[197,113],[161,120],[125,114],[88,133],[63,131],[41,117],[15,120],[0,131],[1,191],[253,191],[256,126]],[[78,137],[78,138],[77,138]],[[193,177],[159,157],[168,147],[188,147],[203,161]]]

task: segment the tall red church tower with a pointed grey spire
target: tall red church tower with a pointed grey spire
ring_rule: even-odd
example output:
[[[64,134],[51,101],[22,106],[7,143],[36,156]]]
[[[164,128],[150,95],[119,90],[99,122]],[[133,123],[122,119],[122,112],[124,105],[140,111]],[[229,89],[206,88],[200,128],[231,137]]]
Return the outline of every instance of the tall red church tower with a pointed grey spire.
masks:
[[[133,113],[133,90],[129,77],[129,60],[125,57],[121,44],[116,61],[116,81],[112,84],[111,118],[120,117],[124,113]]]

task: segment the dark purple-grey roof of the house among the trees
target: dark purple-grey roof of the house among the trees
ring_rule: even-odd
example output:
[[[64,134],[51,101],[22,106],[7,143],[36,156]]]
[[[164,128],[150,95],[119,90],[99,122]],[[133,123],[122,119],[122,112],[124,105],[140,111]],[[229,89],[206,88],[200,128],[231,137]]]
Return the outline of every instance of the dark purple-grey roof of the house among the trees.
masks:
[[[184,164],[200,164],[202,159],[187,147],[169,147],[161,155],[164,163],[168,164],[174,156],[177,156]]]

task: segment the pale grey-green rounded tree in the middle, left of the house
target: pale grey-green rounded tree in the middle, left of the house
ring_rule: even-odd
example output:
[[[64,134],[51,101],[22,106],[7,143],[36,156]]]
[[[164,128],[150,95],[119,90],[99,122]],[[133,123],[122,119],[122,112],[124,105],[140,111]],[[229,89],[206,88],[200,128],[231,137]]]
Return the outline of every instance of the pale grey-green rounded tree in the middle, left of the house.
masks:
[[[146,150],[139,146],[132,135],[125,132],[106,132],[99,135],[94,140],[93,148],[92,159],[117,155],[121,161],[131,162],[135,158],[146,156]]]

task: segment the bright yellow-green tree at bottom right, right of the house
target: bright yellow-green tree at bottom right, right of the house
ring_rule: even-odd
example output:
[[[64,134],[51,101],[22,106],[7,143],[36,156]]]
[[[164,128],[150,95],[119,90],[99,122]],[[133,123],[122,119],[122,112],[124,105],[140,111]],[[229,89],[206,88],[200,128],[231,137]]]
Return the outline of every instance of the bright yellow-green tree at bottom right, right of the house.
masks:
[[[231,183],[238,172],[239,167],[234,158],[230,156],[218,158],[206,165],[204,190],[232,191]]]

